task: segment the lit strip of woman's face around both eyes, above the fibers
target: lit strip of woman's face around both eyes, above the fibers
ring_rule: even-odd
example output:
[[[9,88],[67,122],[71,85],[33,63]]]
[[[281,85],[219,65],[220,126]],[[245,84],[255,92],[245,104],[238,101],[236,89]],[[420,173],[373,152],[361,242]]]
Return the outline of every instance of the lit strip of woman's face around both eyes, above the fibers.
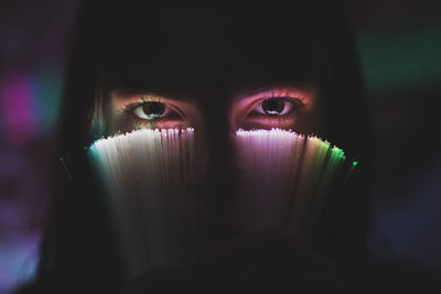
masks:
[[[128,92],[114,90],[108,106],[110,134],[137,129],[209,130],[207,117],[216,107],[204,108],[197,101],[211,97],[184,97],[180,94]],[[240,89],[226,97],[228,130],[290,129],[299,133],[319,130],[318,87],[313,83],[292,83]],[[219,101],[213,100],[213,104]]]

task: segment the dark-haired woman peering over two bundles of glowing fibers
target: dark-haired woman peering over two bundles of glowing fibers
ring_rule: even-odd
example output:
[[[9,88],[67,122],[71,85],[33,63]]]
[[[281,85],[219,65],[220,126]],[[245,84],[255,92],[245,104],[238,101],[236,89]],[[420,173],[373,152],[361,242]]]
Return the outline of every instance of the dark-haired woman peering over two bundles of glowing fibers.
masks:
[[[143,286],[180,288],[185,280],[205,292],[222,292],[271,288],[283,281],[293,288],[338,288],[340,282],[323,281],[343,281],[340,271],[313,252],[347,271],[362,262],[372,162],[366,106],[342,4],[135,2],[84,1],[79,11],[61,117],[61,171],[39,274],[29,291],[111,293],[123,284],[103,190],[84,148],[137,128],[187,127],[200,131],[196,143],[207,157],[198,230],[212,258],[201,258],[194,275],[153,274]],[[271,95],[257,100],[262,92]],[[183,113],[173,113],[173,107]],[[363,174],[322,216],[313,250],[280,233],[244,239],[228,224],[225,211],[239,186],[232,133],[257,128],[316,133],[363,163]],[[238,241],[218,249],[225,240]],[[281,254],[280,262],[268,265],[275,274],[266,269],[251,274],[256,279],[240,277],[255,263],[244,250],[250,243],[261,244],[252,254],[262,257],[259,269],[268,265],[265,257]],[[326,269],[325,274],[312,270],[311,277],[297,269],[298,274],[284,276],[292,268],[282,265],[281,252],[292,255],[293,264],[306,254],[305,264]],[[266,274],[271,277],[263,283]]]

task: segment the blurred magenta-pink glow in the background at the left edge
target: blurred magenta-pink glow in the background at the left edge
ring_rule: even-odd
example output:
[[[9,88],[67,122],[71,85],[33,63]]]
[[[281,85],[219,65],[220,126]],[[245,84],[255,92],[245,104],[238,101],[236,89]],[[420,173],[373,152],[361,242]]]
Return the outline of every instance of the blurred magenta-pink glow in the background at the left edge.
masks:
[[[21,73],[8,75],[0,85],[0,106],[6,139],[14,144],[26,143],[36,131],[31,79]]]

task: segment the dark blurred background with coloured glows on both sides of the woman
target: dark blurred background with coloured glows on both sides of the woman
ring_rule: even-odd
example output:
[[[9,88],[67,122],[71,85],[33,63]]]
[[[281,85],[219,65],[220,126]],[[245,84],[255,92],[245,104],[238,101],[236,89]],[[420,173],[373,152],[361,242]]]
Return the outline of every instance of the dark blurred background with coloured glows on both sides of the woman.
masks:
[[[77,3],[0,3],[0,294],[37,264]],[[376,137],[370,254],[441,274],[441,1],[346,10]]]

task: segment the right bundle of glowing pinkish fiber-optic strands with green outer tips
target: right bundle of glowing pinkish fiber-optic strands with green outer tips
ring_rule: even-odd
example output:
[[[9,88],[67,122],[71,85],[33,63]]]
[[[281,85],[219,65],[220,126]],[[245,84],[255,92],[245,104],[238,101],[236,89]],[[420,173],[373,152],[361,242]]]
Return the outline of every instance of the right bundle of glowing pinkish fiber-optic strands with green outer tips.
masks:
[[[237,161],[241,226],[289,229],[306,240],[357,164],[327,141],[280,129],[237,131]]]

